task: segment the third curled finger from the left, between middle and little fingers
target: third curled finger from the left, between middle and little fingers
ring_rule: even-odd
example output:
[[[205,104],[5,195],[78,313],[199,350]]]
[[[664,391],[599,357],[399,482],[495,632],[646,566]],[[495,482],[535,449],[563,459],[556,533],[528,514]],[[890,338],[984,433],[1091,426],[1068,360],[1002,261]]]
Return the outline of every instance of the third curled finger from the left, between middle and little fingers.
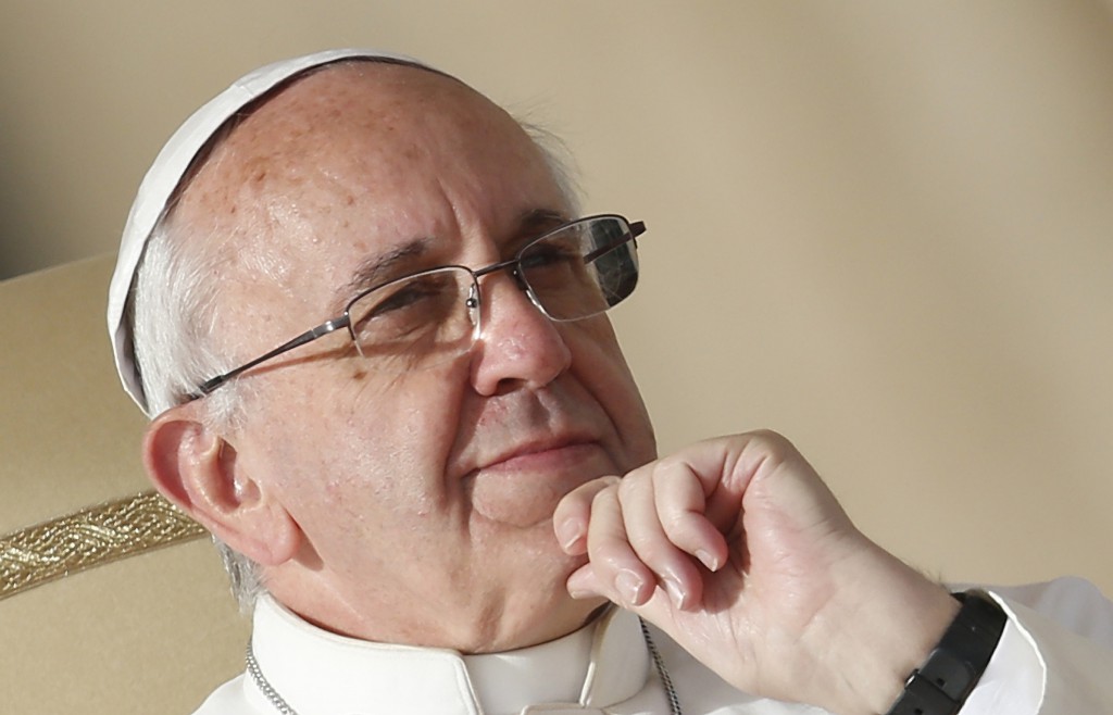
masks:
[[[699,603],[703,584],[691,557],[669,539],[658,516],[654,470],[636,470],[619,484],[623,526],[634,554],[654,575],[680,609]],[[688,477],[691,479],[691,477]],[[699,485],[696,485],[699,491]]]

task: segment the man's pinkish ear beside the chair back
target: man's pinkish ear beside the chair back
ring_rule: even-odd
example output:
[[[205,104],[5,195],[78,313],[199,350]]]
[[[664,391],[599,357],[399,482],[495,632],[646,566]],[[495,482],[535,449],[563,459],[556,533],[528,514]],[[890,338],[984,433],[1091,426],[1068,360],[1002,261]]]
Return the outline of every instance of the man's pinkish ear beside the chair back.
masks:
[[[173,407],[147,428],[144,464],[155,487],[252,560],[277,566],[292,559],[302,537],[297,523],[197,409],[191,403]]]

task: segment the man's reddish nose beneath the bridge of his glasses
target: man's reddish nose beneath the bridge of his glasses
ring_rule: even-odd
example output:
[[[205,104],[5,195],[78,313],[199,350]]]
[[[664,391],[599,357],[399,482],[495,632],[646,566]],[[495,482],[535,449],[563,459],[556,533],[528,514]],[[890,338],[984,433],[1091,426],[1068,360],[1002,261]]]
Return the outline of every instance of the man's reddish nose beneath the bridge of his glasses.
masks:
[[[473,348],[472,385],[480,395],[540,388],[572,364],[556,325],[504,271],[481,279],[482,330]]]

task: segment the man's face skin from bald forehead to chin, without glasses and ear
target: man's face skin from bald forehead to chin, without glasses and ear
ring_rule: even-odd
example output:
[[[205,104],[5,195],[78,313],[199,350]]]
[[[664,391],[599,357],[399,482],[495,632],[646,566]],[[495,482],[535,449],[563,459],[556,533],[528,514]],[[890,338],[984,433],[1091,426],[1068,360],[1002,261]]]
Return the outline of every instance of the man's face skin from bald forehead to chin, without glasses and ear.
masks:
[[[225,141],[179,217],[235,226],[221,339],[249,359],[370,286],[476,268],[574,218],[540,152],[472,90],[412,68],[337,67],[269,100]],[[242,377],[235,468],[296,525],[272,593],[326,627],[477,652],[538,643],[598,604],[563,587],[556,502],[653,458],[605,317],[553,324],[503,272],[481,279],[470,352],[377,373],[334,334]],[[246,385],[246,383],[245,383]]]

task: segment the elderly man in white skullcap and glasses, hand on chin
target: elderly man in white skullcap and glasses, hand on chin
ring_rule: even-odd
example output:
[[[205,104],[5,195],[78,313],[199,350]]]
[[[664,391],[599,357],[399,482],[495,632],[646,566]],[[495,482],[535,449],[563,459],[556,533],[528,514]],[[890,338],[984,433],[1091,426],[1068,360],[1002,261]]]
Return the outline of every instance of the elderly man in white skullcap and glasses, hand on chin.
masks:
[[[604,315],[643,230],[405,58],[264,68],[171,138],[109,325],[255,608],[199,712],[1113,712],[1092,588],[953,597],[776,435],[657,458]]]

